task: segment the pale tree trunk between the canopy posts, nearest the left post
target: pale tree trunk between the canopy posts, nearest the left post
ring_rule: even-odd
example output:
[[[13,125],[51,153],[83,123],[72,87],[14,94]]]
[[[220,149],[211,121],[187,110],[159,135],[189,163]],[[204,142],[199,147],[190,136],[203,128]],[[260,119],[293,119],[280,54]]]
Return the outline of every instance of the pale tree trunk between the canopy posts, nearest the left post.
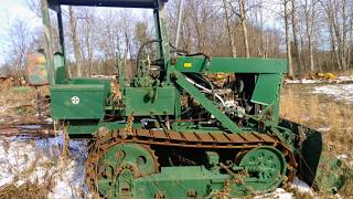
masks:
[[[81,53],[81,48],[79,48],[79,41],[77,38],[77,21],[74,14],[74,10],[72,7],[68,7],[68,14],[69,14],[69,28],[71,28],[71,36],[74,43],[74,54],[75,54],[75,60],[76,60],[76,70],[77,70],[77,76],[82,76],[82,63],[83,63],[83,57]]]

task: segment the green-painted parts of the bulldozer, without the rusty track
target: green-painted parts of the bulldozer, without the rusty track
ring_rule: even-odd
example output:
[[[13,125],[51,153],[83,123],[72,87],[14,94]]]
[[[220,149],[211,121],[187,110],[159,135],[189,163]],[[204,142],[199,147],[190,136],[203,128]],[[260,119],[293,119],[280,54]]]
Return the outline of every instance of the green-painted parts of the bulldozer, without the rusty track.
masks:
[[[200,134],[235,133],[244,135],[246,132],[271,134],[276,135],[298,157],[303,157],[307,165],[303,166],[302,161],[298,160],[300,164],[297,168],[298,175],[307,182],[313,184],[319,172],[317,168],[322,149],[321,134],[307,129],[307,137],[302,142],[298,138],[302,126],[290,122],[289,125],[278,123],[279,93],[282,75],[287,73],[286,60],[172,57],[164,0],[47,0],[49,7],[54,9],[58,15],[61,15],[61,2],[71,6],[150,8],[153,11],[156,39],[160,41],[157,43],[160,63],[158,75],[150,73],[148,62],[140,60],[141,74],[130,77],[127,75],[127,64],[117,60],[118,80],[69,78],[65,69],[65,57],[61,53],[52,57],[53,40],[50,36],[47,4],[46,0],[43,2],[52,117],[67,125],[71,137],[92,137],[101,127],[108,133],[117,129],[121,132],[129,125],[142,128],[141,119],[143,118],[154,119],[159,123],[159,126],[156,125],[156,127],[162,128],[165,133],[174,130]],[[61,25],[60,29],[62,29]],[[62,34],[63,30],[60,32]],[[61,42],[61,45],[64,46],[63,39]],[[237,114],[239,111],[234,112],[234,115],[229,114],[227,111],[233,111],[232,107],[221,108],[214,98],[207,97],[199,90],[200,85],[197,87],[188,81],[190,76],[216,73],[235,74],[236,81],[244,81],[244,91],[234,88],[234,93],[239,92],[236,94],[244,100],[239,102],[248,105],[243,106],[248,108],[244,117],[234,116],[234,113]],[[121,98],[113,97],[111,81],[118,81]],[[202,82],[200,77],[199,81]],[[202,84],[210,85],[207,82],[202,82]],[[215,96],[213,92],[216,86],[211,85],[210,87],[212,91],[210,93]],[[199,114],[199,109],[194,109],[193,116],[190,116],[188,112],[185,114],[184,109],[189,107],[182,109],[181,106],[184,103],[182,97],[186,95],[199,103],[190,107],[202,106],[205,111],[200,108],[200,112],[206,112],[204,115],[212,115],[216,123],[200,124],[197,122],[200,116],[194,116]],[[133,116],[133,119],[129,116]],[[171,124],[167,124],[169,119],[172,121]],[[163,156],[163,149],[167,149],[168,146],[163,147],[159,149],[159,156],[161,159],[168,159],[165,155]],[[250,150],[245,148],[240,151],[229,149],[231,153],[213,148],[212,150],[204,149],[201,156],[205,158],[200,157],[200,163],[195,165],[179,166],[171,161],[162,163],[167,166],[158,167],[153,150],[148,148],[148,145],[117,143],[100,153],[103,157],[99,159],[99,170],[101,169],[104,175],[98,179],[98,190],[107,198],[164,197],[179,199],[216,197],[220,191],[229,197],[239,197],[267,192],[279,187],[287,171],[284,155],[269,146],[258,146]],[[225,160],[233,153],[237,157]],[[336,161],[333,165],[336,165]],[[242,171],[245,171],[243,176]],[[308,175],[310,171],[311,174]],[[325,178],[322,179],[324,181]],[[328,181],[334,182],[335,179]]]

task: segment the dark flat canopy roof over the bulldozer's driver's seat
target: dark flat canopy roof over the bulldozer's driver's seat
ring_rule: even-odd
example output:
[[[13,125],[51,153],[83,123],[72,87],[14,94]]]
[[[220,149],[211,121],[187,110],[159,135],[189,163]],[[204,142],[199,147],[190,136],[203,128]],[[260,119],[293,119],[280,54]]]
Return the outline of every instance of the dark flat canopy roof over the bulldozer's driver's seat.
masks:
[[[160,0],[167,2],[168,0]],[[158,8],[158,0],[47,0],[49,7],[56,10],[61,4],[85,7]]]

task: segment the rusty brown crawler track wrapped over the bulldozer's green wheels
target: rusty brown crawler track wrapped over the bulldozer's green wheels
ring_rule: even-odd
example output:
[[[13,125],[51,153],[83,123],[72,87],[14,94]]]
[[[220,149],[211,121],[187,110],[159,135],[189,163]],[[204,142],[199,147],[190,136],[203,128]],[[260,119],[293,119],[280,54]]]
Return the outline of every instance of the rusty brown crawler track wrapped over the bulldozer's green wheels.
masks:
[[[172,146],[184,148],[210,148],[210,149],[239,149],[249,150],[259,146],[272,146],[282,151],[287,160],[287,178],[292,181],[296,176],[297,163],[295,155],[284,143],[274,135],[259,133],[227,134],[227,133],[179,133],[170,130],[125,129],[107,132],[100,129],[93,145],[86,163],[87,184],[90,190],[95,190],[97,165],[99,157],[110,147],[121,143],[137,143],[146,146]]]

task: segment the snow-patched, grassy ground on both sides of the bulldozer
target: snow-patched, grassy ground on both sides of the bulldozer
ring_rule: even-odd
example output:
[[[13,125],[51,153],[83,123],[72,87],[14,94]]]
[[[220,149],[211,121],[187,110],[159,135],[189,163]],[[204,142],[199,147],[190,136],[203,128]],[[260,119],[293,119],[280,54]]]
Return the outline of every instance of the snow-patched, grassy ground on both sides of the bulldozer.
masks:
[[[39,90],[43,96],[47,94],[47,88]],[[0,88],[0,198],[89,198],[84,174],[87,140],[68,140],[63,132],[50,130],[53,122],[42,100],[38,106],[34,88]],[[352,83],[304,82],[285,85],[280,114],[321,130],[327,153],[339,157],[346,167],[353,167],[352,107]],[[302,187],[306,186],[299,189]],[[343,190],[330,197],[349,198],[352,189],[347,181]],[[328,195],[312,193],[310,189],[304,189],[304,193],[279,189],[266,196],[292,197]]]

